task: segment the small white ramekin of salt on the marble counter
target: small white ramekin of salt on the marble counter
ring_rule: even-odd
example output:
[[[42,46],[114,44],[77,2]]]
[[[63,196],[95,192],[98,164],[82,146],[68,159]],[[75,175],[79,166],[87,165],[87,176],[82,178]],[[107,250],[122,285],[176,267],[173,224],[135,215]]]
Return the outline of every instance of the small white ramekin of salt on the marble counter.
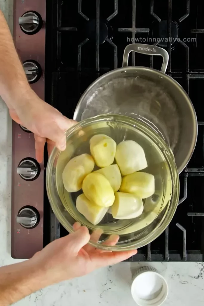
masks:
[[[135,275],[131,294],[139,306],[159,306],[167,298],[168,285],[154,268],[143,267]]]

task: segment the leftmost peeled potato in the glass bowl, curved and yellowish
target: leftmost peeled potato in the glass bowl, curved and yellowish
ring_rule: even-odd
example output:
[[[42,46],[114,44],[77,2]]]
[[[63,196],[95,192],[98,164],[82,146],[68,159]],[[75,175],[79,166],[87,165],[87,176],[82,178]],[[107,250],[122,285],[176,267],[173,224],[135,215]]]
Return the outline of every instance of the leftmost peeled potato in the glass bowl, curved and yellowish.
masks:
[[[68,192],[82,188],[84,177],[94,169],[94,159],[89,154],[76,156],[67,163],[62,173],[62,181]]]

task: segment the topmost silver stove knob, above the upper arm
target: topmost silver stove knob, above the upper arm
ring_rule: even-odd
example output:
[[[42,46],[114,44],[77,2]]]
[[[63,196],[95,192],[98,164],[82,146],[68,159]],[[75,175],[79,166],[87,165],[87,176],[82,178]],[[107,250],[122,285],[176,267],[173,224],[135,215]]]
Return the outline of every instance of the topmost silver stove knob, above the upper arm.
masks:
[[[19,17],[18,23],[25,34],[31,35],[37,33],[42,28],[43,20],[37,12],[31,11]]]

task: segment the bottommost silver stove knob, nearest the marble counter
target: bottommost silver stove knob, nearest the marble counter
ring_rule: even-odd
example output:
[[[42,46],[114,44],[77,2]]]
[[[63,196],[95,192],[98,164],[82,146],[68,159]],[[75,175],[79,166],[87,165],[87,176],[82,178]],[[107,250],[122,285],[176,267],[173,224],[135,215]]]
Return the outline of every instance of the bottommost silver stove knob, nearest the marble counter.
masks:
[[[25,228],[32,228],[39,223],[39,212],[32,206],[24,206],[18,212],[16,222]]]

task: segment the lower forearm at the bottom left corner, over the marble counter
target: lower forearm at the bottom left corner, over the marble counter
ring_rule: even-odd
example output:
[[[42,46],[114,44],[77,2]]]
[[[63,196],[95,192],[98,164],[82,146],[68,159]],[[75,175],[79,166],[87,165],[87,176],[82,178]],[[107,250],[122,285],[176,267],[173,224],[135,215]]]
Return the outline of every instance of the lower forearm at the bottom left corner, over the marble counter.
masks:
[[[8,306],[50,285],[32,260],[0,268],[0,305]]]

